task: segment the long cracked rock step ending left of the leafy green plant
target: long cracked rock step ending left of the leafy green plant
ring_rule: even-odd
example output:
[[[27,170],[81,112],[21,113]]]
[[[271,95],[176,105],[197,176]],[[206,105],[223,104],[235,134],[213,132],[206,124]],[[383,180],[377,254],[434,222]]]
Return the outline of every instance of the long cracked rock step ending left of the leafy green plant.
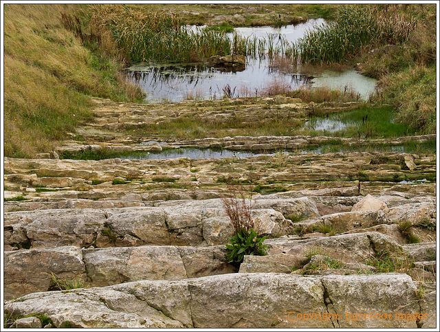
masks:
[[[52,273],[84,287],[137,280],[180,280],[237,272],[225,246],[142,246],[80,249],[73,246],[5,252],[4,296],[53,289]]]

